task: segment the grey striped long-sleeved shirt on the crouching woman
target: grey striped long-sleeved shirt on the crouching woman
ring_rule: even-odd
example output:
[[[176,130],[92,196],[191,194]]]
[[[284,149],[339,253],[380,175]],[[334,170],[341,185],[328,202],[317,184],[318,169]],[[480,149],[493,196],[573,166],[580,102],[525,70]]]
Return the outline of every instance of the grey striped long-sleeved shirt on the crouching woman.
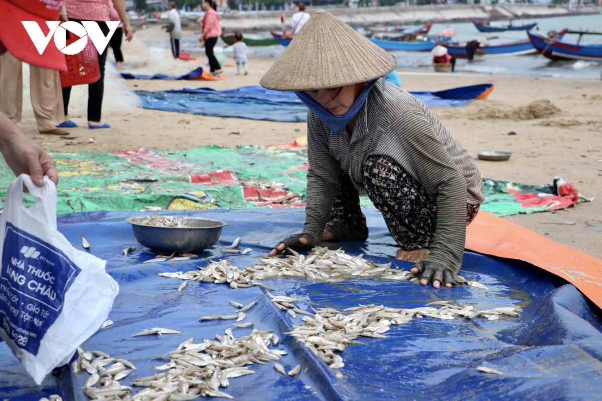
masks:
[[[483,201],[479,170],[462,145],[435,115],[399,87],[377,82],[359,111],[350,138],[343,128],[333,135],[308,112],[307,207],[305,233],[320,237],[339,186],[339,172],[364,188],[367,156],[388,156],[436,198],[437,223],[427,261],[459,271],[464,256],[466,204]]]

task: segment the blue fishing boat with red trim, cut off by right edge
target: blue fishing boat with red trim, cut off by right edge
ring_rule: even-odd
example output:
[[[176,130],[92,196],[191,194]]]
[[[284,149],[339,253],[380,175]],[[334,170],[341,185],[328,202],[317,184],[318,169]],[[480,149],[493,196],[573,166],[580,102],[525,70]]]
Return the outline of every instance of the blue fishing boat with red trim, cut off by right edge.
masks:
[[[533,47],[550,60],[602,61],[602,44],[579,44],[583,35],[602,35],[602,32],[567,30],[566,33],[579,34],[577,44],[565,43],[562,38],[549,38],[527,31]]]

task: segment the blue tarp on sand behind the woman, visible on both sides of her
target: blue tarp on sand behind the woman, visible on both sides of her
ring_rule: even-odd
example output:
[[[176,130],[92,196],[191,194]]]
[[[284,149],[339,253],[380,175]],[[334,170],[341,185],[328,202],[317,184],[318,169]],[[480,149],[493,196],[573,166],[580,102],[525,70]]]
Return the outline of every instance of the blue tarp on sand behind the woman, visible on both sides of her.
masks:
[[[438,92],[411,92],[427,107],[459,107],[468,105],[491,84],[453,88]],[[293,92],[267,90],[259,86],[229,90],[199,88],[168,91],[136,91],[145,109],[297,122],[307,121],[307,108]]]

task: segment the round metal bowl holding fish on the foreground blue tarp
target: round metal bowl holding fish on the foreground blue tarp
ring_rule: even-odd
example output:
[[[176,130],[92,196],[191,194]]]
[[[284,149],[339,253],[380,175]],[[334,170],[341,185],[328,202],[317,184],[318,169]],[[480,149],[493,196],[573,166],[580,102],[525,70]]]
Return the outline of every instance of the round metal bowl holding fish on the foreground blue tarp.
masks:
[[[228,225],[220,220],[185,217],[183,222],[186,227],[154,227],[138,224],[134,221],[138,218],[126,219],[132,225],[136,240],[164,253],[200,253],[213,246],[222,234],[222,227]]]

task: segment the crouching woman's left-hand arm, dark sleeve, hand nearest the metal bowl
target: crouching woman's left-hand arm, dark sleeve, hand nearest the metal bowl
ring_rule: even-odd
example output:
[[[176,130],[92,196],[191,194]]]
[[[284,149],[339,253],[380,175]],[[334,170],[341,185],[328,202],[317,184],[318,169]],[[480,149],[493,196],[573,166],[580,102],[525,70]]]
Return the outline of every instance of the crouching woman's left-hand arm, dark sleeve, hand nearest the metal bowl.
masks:
[[[321,131],[320,122],[308,112],[307,146],[309,170],[305,206],[305,227],[300,234],[293,234],[282,240],[270,252],[270,256],[285,253],[285,248],[311,250],[319,245],[326,227],[332,204],[339,188],[341,164],[330,154],[328,141]]]

